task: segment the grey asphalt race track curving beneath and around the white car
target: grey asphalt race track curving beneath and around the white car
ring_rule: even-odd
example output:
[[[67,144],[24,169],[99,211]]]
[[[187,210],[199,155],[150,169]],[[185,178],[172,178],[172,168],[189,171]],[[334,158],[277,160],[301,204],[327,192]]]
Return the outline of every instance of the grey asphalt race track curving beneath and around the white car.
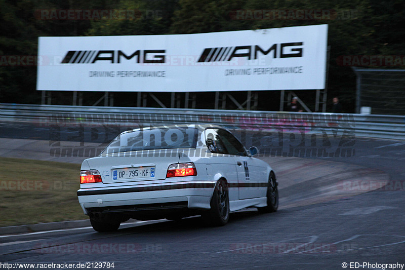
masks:
[[[29,125],[19,132],[1,128],[1,157],[78,162],[52,157],[49,137]],[[239,211],[223,227],[191,217],[123,224],[116,233],[79,228],[0,236],[0,262],[114,262],[113,269],[343,269],[344,263],[388,269],[382,264],[405,263],[405,142],[357,137],[350,147],[349,157],[260,157],[279,181],[276,213]]]

